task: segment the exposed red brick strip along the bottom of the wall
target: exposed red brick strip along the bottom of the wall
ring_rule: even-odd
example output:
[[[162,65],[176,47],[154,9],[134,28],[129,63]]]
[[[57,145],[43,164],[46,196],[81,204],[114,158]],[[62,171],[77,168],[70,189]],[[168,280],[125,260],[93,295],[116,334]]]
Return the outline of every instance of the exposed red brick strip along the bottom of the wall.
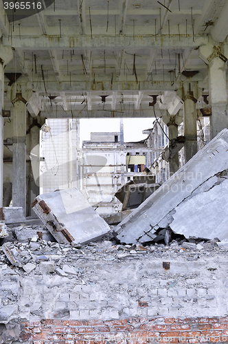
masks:
[[[28,344],[227,343],[228,316],[215,318],[142,318],[113,321],[41,320],[25,322]]]

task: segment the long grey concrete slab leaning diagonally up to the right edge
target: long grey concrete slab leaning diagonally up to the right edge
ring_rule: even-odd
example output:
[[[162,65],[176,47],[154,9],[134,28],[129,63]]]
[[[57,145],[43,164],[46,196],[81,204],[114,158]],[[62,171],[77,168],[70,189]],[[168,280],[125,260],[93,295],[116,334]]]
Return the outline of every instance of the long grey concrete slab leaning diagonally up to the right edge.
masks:
[[[209,191],[227,169],[228,130],[224,129],[117,226],[117,238],[124,243],[151,241],[158,228],[172,226],[176,208],[182,202]],[[214,208],[214,219],[218,213],[219,209]],[[188,213],[185,216],[188,218]],[[192,235],[188,222],[185,226],[187,236]]]

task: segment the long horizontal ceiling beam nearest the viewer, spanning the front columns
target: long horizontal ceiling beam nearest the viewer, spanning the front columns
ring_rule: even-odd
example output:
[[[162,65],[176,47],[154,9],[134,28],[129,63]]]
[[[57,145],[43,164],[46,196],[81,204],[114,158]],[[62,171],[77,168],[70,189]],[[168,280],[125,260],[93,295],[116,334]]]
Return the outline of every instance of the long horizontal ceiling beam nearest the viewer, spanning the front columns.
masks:
[[[141,47],[158,47],[163,49],[179,49],[186,47],[198,47],[206,45],[208,37],[206,35],[196,35],[194,41],[191,36],[162,34],[155,36],[12,36],[12,46],[22,50],[81,50],[82,48],[97,49],[97,48],[116,48],[134,51],[135,48]],[[3,36],[3,45],[9,45],[8,38]]]

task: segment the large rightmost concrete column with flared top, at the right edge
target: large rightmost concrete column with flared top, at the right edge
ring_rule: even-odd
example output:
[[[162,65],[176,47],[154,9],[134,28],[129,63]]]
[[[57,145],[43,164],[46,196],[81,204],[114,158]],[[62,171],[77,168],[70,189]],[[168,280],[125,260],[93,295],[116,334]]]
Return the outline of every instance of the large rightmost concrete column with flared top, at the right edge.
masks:
[[[199,56],[208,66],[209,105],[212,107],[210,116],[211,140],[221,130],[228,127],[227,117],[227,84],[226,61],[227,52],[223,45],[209,45],[199,49]]]

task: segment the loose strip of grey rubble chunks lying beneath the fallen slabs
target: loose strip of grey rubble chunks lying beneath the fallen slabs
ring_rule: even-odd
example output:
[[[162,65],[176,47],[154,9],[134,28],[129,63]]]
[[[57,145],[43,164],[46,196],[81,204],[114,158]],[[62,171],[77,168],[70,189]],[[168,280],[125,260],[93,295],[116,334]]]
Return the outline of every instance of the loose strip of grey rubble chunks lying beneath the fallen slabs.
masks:
[[[36,230],[32,226],[24,227],[23,230]],[[39,229],[41,229],[40,227]],[[45,232],[45,228],[42,228]],[[14,233],[19,233],[21,226],[12,228]],[[22,238],[22,237],[21,237]],[[35,275],[43,273],[52,273],[65,277],[75,277],[83,281],[83,268],[77,268],[75,262],[82,260],[102,259],[104,261],[118,261],[119,259],[141,259],[141,257],[163,256],[166,257],[169,252],[183,255],[187,254],[187,260],[197,260],[201,254],[218,250],[228,250],[228,245],[220,245],[219,241],[203,241],[202,239],[179,239],[172,240],[169,246],[164,244],[147,244],[147,245],[122,245],[117,244],[115,238],[111,240],[100,240],[90,242],[84,246],[59,244],[54,241],[45,241],[34,235],[32,239],[8,241],[0,248],[4,255],[0,256],[0,268],[2,272],[8,272],[9,263],[14,272],[19,275],[27,275],[34,271]],[[195,242],[193,242],[195,241]],[[228,242],[227,242],[228,244]],[[190,253],[190,255],[188,255]],[[210,254],[211,254],[210,253]]]

